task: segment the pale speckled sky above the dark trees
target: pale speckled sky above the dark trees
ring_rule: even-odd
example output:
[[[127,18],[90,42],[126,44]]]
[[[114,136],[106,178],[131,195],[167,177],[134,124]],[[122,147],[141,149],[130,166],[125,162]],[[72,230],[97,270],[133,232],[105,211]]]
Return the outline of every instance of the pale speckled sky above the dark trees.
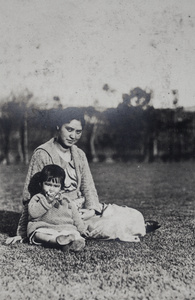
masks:
[[[140,87],[195,106],[194,0],[0,0],[0,36],[0,101],[116,107]]]

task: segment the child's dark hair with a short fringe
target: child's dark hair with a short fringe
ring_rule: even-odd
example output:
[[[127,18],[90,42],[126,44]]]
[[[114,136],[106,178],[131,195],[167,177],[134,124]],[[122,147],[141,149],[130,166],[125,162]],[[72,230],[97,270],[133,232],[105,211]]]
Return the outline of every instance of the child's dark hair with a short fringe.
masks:
[[[46,165],[41,172],[37,172],[30,180],[28,190],[33,197],[42,191],[42,185],[45,181],[52,181],[57,183],[60,180],[61,188],[64,188],[65,172],[58,165]]]

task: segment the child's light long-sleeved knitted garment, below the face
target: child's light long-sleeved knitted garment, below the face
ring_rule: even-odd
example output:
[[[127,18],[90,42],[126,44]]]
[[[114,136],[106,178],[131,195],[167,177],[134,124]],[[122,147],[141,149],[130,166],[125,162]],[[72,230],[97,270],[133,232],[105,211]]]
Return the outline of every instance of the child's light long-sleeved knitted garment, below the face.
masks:
[[[80,239],[86,230],[75,204],[66,199],[49,204],[44,195],[36,194],[28,204],[28,213],[27,235],[31,243],[36,232],[53,237],[72,234]]]

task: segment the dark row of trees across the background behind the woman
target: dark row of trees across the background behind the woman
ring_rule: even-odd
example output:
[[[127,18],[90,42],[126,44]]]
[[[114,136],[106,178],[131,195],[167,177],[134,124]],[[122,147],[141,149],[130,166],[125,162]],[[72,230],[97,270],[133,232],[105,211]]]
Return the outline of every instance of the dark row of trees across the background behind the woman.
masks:
[[[12,97],[0,109],[0,161],[27,164],[33,149],[55,134],[63,109],[58,97],[55,107],[40,109],[30,102],[31,93]],[[99,111],[83,107],[86,128],[79,146],[88,158],[113,161],[137,159],[180,160],[194,157],[195,113],[182,108],[154,109],[152,93],[135,88],[123,95],[117,108]]]

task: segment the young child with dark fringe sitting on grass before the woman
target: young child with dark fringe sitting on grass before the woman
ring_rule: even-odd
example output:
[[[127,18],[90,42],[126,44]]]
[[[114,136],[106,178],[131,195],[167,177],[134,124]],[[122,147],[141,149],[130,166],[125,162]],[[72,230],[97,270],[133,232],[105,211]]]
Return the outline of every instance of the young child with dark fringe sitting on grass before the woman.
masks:
[[[85,247],[81,234],[87,235],[87,228],[74,202],[64,192],[60,197],[64,179],[65,172],[61,167],[47,165],[29,184],[31,194],[35,182],[38,183],[36,192],[39,192],[28,204],[27,235],[31,244],[58,245],[64,251],[80,251]]]

